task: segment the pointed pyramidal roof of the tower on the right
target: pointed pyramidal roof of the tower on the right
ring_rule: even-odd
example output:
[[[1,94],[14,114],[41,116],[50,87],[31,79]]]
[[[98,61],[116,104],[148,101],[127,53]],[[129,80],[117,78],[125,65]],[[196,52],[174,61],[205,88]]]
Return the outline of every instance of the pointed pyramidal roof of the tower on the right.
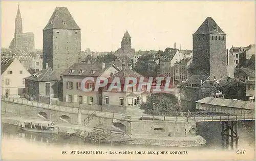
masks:
[[[198,28],[198,30],[193,35],[200,34],[226,34],[224,33],[214,19],[207,17],[203,24]]]

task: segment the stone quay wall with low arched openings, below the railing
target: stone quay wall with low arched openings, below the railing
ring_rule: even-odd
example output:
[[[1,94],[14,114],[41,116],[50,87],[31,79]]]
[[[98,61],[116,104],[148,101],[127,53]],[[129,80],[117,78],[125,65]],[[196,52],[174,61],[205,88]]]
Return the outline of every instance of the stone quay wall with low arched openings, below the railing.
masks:
[[[72,111],[63,111],[61,108],[44,108],[35,105],[24,105],[18,102],[9,102],[2,100],[2,112],[17,114],[19,116],[36,117],[45,116],[47,120],[61,122],[61,119],[67,120],[71,124],[84,124],[89,114],[81,113],[78,109]],[[114,113],[113,113],[114,114]],[[133,117],[133,116],[131,116]],[[113,119],[108,116],[96,115],[86,123],[88,127],[101,127],[108,129],[121,129],[127,134],[132,135],[155,135],[155,136],[170,136],[170,137],[186,137],[196,136],[196,122],[186,119],[176,121],[164,120],[140,120],[136,119]]]

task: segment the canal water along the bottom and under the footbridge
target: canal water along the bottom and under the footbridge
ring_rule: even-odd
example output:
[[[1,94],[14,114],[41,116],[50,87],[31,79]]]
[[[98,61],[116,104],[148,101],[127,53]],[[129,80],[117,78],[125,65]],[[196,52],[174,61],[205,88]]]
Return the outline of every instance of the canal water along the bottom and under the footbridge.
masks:
[[[238,122],[238,147],[251,147],[255,146],[255,122],[244,121]],[[2,140],[23,140],[26,142],[35,142],[38,145],[51,145],[51,146],[105,146],[109,147],[110,144],[100,144],[84,142],[79,136],[73,136],[69,138],[62,137],[59,134],[42,134],[27,131],[20,131],[16,126],[9,124],[2,124],[1,126]],[[188,147],[182,149],[215,149],[222,150],[222,137],[221,137],[221,122],[198,122],[197,123],[197,135],[201,135],[205,140],[206,144],[199,147]],[[146,147],[148,149],[158,149],[160,146],[143,146],[143,145],[129,145],[129,144],[114,144],[117,148],[128,148],[128,147]],[[167,149],[175,149],[176,147],[161,147]]]

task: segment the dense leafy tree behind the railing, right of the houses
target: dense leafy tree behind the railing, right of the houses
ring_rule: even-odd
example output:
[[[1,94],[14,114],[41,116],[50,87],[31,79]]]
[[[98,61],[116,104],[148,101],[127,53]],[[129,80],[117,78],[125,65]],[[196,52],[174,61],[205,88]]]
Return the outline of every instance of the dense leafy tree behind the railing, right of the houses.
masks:
[[[140,108],[144,109],[147,114],[158,116],[179,116],[180,114],[178,100],[175,96],[164,93],[151,95],[147,103],[142,103]]]

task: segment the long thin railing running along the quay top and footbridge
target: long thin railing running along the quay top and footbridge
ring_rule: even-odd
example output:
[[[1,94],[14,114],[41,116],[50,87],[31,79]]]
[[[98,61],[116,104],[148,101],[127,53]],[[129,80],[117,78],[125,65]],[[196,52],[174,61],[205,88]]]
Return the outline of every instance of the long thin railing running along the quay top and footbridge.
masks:
[[[52,110],[59,110],[63,112],[69,113],[78,113],[79,109],[76,107],[66,107],[66,106],[58,106],[58,105],[50,105],[39,103],[35,101],[29,101],[27,99],[20,99],[20,98],[6,98],[2,97],[2,100],[8,102],[14,102],[24,105],[30,105],[45,109],[52,109]],[[2,106],[2,110],[5,107]],[[229,119],[236,119],[236,117],[242,120],[250,119],[255,120],[254,111],[253,110],[234,110],[234,111],[199,111],[199,112],[181,112],[181,117],[167,117],[167,116],[143,116],[143,115],[131,115],[131,114],[122,114],[122,113],[114,113],[114,112],[105,112],[105,111],[94,111],[94,110],[86,110],[81,109],[81,114],[88,114],[91,117],[88,117],[89,121],[92,118],[93,114],[96,117],[103,117],[103,118],[111,118],[111,119],[118,119],[118,120],[132,120],[132,121],[172,121],[172,122],[188,122],[189,120],[229,120]],[[217,119],[218,118],[218,119]],[[85,123],[85,122],[84,122]]]

